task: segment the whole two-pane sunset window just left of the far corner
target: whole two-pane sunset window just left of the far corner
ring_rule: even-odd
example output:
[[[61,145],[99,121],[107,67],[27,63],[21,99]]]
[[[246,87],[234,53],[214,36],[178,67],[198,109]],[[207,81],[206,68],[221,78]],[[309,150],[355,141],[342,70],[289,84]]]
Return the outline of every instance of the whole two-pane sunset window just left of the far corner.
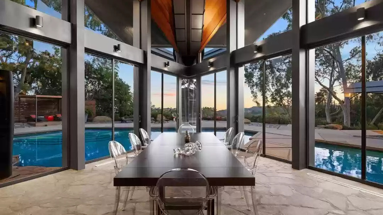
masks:
[[[151,138],[177,131],[177,77],[151,71]]]

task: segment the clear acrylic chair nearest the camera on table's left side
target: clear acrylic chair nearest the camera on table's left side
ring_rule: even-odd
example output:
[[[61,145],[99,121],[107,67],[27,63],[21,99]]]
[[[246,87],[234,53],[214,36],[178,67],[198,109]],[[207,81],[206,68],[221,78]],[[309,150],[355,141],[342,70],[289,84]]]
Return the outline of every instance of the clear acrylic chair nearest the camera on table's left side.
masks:
[[[121,145],[121,143],[117,141],[109,141],[108,143],[109,148],[109,154],[110,158],[114,160],[115,166],[114,171],[116,172],[116,175],[121,172],[122,168],[128,164],[128,154],[124,148],[124,146]],[[121,195],[121,188],[122,187],[116,187],[116,194],[115,194],[115,214],[117,214],[118,211],[118,205],[120,202],[120,195]],[[126,191],[126,197],[124,201],[124,206],[122,207],[122,210],[125,210],[126,203],[128,202],[128,198],[133,198],[133,192],[135,187],[123,187],[123,190]]]

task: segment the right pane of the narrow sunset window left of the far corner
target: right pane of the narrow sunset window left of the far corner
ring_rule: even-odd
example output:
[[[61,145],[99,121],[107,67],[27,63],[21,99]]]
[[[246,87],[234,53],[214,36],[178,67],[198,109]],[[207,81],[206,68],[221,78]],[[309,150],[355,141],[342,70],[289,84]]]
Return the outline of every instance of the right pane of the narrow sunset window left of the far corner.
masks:
[[[164,74],[164,132],[177,131],[177,77]]]

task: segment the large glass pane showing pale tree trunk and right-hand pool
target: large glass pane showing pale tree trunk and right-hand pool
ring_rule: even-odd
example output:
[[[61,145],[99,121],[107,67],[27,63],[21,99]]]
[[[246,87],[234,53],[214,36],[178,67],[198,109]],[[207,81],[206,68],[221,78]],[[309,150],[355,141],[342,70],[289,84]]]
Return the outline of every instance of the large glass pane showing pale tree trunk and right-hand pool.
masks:
[[[361,177],[361,41],[315,49],[315,166]]]

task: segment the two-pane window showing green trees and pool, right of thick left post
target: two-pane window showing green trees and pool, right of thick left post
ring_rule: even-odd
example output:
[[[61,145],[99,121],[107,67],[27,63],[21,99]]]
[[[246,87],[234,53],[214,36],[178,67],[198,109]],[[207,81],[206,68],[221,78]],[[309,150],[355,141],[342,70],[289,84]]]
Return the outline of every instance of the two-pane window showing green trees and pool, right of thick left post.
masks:
[[[110,140],[127,151],[132,148],[128,134],[134,130],[133,65],[112,62],[85,54],[85,161],[109,156]]]

